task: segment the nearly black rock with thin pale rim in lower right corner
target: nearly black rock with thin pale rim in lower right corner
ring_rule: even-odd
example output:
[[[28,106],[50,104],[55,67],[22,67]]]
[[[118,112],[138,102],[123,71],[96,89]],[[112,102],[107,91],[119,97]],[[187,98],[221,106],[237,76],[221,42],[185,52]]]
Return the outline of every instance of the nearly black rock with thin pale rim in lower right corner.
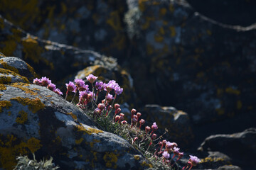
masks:
[[[256,129],[250,128],[244,132],[231,135],[211,135],[201,144],[201,151],[223,152],[232,159],[232,163],[248,169],[255,167]]]

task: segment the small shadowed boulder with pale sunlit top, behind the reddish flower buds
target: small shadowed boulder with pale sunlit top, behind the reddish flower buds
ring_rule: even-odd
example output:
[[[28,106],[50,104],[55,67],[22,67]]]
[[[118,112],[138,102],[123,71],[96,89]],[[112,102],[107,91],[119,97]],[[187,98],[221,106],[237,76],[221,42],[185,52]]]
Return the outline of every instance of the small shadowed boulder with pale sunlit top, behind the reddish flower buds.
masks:
[[[158,105],[146,105],[143,109],[145,120],[159,126],[162,133],[168,130],[168,139],[177,142],[181,148],[191,146],[193,143],[193,131],[188,114],[177,111],[174,107],[163,107]],[[162,135],[161,132],[159,135]]]

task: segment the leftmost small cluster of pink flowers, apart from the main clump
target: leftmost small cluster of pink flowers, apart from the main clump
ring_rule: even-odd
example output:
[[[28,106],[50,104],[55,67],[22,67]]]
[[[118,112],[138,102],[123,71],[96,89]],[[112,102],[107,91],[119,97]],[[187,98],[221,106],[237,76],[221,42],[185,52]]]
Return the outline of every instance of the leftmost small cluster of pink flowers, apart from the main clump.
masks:
[[[56,88],[56,85],[51,82],[50,79],[47,77],[42,77],[41,79],[33,79],[33,84],[37,84],[39,86],[46,86],[47,89],[50,89],[51,91],[54,91],[58,95],[63,95],[63,93],[60,91],[60,89]]]

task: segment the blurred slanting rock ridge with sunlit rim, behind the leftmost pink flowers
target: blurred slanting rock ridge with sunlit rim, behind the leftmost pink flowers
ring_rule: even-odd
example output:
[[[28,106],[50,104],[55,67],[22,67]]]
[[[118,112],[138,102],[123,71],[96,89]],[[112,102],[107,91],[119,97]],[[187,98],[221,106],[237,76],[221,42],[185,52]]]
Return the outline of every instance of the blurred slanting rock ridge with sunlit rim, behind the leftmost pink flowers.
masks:
[[[30,64],[37,74],[50,77],[55,82],[63,81],[68,75],[75,74],[93,64],[118,67],[116,60],[112,57],[106,57],[91,50],[80,50],[57,42],[41,40],[14,26],[2,16],[0,16],[0,52],[6,56],[21,58]]]

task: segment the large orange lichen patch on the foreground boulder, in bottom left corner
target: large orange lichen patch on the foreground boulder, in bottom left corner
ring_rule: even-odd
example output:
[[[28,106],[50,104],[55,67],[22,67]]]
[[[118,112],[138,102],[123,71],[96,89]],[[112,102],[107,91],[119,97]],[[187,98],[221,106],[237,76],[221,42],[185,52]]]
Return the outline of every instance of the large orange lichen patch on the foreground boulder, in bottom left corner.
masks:
[[[41,147],[40,140],[34,137],[25,142],[14,135],[0,135],[0,166],[7,170],[14,169],[16,156],[34,153]]]

